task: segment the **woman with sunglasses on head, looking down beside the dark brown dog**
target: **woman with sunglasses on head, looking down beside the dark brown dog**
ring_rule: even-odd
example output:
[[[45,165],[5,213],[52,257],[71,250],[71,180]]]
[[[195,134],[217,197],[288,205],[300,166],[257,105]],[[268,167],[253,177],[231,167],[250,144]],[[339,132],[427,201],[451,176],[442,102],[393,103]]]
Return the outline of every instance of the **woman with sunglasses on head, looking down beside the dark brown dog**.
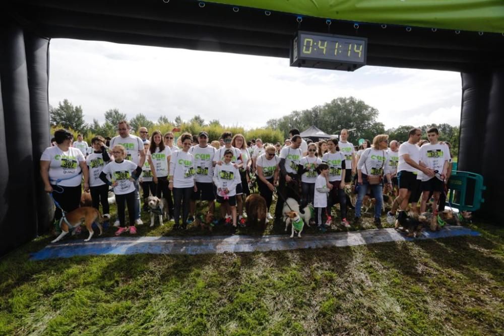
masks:
[[[266,218],[268,221],[273,220],[273,216],[270,214],[270,206],[273,200],[275,185],[278,183],[278,174],[280,171],[278,168],[280,158],[275,155],[275,152],[275,147],[273,145],[268,145],[265,147],[265,152],[260,155],[256,161],[256,175],[258,177],[257,186],[259,194],[266,199],[266,206],[268,208],[268,215]]]

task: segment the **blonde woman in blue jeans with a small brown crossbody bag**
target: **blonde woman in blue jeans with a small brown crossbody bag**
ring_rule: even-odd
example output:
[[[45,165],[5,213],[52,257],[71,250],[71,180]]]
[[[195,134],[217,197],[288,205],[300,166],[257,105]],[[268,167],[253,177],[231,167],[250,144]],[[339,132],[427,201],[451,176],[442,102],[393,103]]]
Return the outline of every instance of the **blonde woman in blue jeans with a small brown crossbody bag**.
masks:
[[[355,224],[360,222],[362,200],[364,199],[367,189],[370,188],[376,200],[374,204],[374,225],[379,229],[382,228],[380,216],[383,207],[382,177],[384,172],[387,177],[387,182],[392,187],[388,148],[389,136],[381,134],[374,137],[372,146],[365,149],[360,156],[359,162],[357,163],[357,183],[359,184],[359,188],[357,192],[357,201],[355,202]],[[373,179],[377,181],[373,181]]]

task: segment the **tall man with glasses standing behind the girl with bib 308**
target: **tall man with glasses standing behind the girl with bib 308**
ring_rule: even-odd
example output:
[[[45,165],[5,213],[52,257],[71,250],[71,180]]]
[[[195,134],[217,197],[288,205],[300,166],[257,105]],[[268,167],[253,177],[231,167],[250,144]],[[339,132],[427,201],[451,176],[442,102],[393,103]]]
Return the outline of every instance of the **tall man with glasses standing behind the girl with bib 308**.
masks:
[[[119,132],[119,135],[110,140],[109,147],[113,148],[115,145],[122,145],[126,149],[126,157],[124,159],[132,161],[139,167],[143,167],[145,162],[145,152],[142,139],[130,134],[130,124],[126,120],[119,121],[117,124],[117,131]],[[135,198],[137,199],[135,202],[135,214],[137,214],[136,224],[142,225],[144,223],[140,219],[140,194],[138,192],[138,179],[134,181],[134,184]],[[118,221],[114,223],[114,226],[119,226]]]

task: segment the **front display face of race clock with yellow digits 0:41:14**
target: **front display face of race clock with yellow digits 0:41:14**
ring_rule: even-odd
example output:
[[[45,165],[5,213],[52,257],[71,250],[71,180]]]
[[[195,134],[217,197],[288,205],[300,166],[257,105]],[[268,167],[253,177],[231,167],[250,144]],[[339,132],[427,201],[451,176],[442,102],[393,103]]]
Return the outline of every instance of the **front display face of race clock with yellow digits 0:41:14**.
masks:
[[[364,43],[358,40],[323,40],[304,35],[301,39],[301,52],[304,57],[364,61]]]

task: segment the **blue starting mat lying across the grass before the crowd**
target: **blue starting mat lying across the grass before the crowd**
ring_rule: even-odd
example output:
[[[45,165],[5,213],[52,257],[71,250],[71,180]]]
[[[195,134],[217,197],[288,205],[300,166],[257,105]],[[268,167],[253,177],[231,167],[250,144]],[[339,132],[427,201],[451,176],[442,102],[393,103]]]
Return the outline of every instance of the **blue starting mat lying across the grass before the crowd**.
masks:
[[[76,255],[101,254],[212,254],[224,252],[284,251],[304,248],[344,247],[390,241],[413,241],[455,236],[479,236],[480,233],[462,226],[447,226],[437,232],[423,232],[408,238],[394,229],[305,234],[302,238],[289,235],[266,236],[196,236],[196,237],[111,237],[94,238],[89,242],[71,241],[47,245],[33,253],[31,260],[70,258]]]

